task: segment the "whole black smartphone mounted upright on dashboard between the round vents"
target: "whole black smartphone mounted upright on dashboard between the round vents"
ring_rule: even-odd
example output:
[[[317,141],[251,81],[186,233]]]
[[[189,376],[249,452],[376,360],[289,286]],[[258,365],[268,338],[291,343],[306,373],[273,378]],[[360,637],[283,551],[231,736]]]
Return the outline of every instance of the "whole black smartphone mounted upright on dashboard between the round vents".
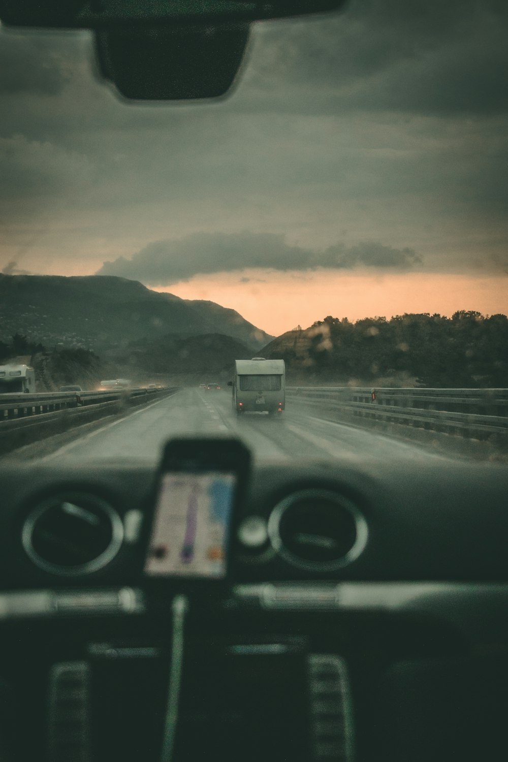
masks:
[[[251,453],[236,439],[175,439],[162,456],[144,572],[175,580],[228,580]]]

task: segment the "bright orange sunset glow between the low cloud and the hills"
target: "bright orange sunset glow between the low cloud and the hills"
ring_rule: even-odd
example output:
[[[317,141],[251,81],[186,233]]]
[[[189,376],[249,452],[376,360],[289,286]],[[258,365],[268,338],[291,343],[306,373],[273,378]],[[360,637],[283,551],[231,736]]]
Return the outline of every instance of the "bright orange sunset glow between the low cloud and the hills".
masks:
[[[206,299],[236,309],[245,319],[273,335],[296,325],[312,325],[326,315],[351,321],[375,315],[404,312],[439,312],[452,315],[474,309],[494,315],[508,311],[507,277],[474,277],[455,274],[365,273],[238,274],[194,278],[188,283],[154,290],[174,293],[182,299]]]

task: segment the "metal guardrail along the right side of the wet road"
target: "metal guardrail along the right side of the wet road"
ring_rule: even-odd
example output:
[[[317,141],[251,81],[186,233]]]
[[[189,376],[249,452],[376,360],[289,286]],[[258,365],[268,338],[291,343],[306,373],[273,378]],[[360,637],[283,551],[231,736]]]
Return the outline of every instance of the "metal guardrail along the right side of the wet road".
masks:
[[[508,434],[508,389],[286,387],[289,399],[315,408],[433,431],[488,437]]]

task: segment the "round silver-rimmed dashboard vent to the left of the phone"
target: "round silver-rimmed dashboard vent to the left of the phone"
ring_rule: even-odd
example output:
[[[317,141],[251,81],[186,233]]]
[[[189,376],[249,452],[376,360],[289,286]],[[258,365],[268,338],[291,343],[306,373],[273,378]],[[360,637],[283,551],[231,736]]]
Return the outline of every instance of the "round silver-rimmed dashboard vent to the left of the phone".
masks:
[[[123,542],[123,523],[109,503],[62,492],[37,504],[22,530],[25,552],[44,571],[89,574],[109,563]]]

